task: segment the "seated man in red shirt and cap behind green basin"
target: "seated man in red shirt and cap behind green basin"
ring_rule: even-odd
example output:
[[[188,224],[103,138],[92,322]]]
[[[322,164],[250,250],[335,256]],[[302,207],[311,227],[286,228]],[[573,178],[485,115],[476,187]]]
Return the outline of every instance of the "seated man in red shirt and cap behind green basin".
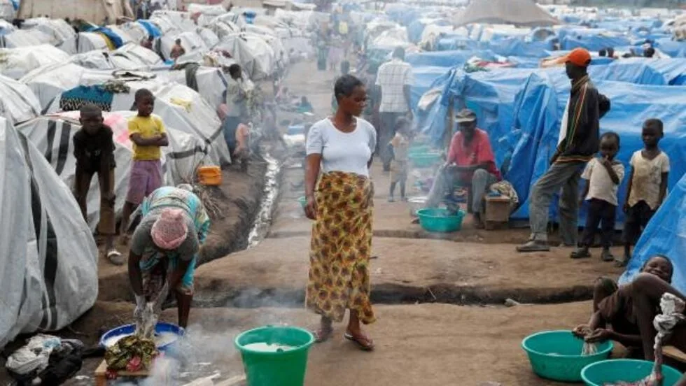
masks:
[[[482,227],[481,208],[484,194],[500,180],[500,171],[493,157],[489,134],[477,128],[477,115],[469,109],[456,116],[460,130],[450,141],[448,159],[441,166],[426,201],[427,208],[437,207],[445,194],[452,196],[456,185],[468,187],[475,227]]]

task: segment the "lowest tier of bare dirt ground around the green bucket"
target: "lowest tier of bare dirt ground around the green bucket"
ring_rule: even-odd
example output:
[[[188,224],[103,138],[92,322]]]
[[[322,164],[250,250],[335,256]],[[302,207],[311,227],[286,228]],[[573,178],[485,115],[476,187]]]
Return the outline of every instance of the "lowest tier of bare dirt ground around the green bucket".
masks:
[[[488,381],[503,386],[560,385],[532,373],[521,340],[536,331],[570,329],[586,321],[590,308],[589,302],[513,308],[377,306],[379,320],[367,327],[376,350],[360,352],[342,339],[344,324],[337,324],[330,341],[311,348],[305,385],[479,386]],[[95,312],[127,317],[132,306],[99,302],[91,313]],[[174,322],[176,310],[166,310],[162,318]],[[118,320],[111,317],[101,322],[113,327]],[[228,378],[242,369],[233,348],[239,331],[279,323],[314,327],[317,317],[302,309],[210,308],[192,310],[191,323],[188,334],[200,348],[195,361],[212,362]],[[88,317],[73,325],[83,331],[97,327]],[[622,355],[621,349],[617,355]],[[98,363],[88,360],[79,375],[92,376]],[[71,383],[87,384],[84,379]]]

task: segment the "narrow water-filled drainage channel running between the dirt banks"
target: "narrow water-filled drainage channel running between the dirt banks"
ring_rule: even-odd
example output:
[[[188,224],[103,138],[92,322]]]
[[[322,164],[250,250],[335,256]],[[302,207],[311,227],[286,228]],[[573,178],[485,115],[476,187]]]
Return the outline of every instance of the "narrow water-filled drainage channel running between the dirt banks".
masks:
[[[248,234],[248,249],[258,245],[262,238],[269,231],[269,226],[272,224],[272,213],[274,212],[274,205],[279,196],[279,171],[281,171],[281,164],[268,152],[263,152],[263,158],[267,162],[267,172],[265,173],[265,193],[262,196],[262,203],[260,203],[260,210],[255,216],[255,224]]]

